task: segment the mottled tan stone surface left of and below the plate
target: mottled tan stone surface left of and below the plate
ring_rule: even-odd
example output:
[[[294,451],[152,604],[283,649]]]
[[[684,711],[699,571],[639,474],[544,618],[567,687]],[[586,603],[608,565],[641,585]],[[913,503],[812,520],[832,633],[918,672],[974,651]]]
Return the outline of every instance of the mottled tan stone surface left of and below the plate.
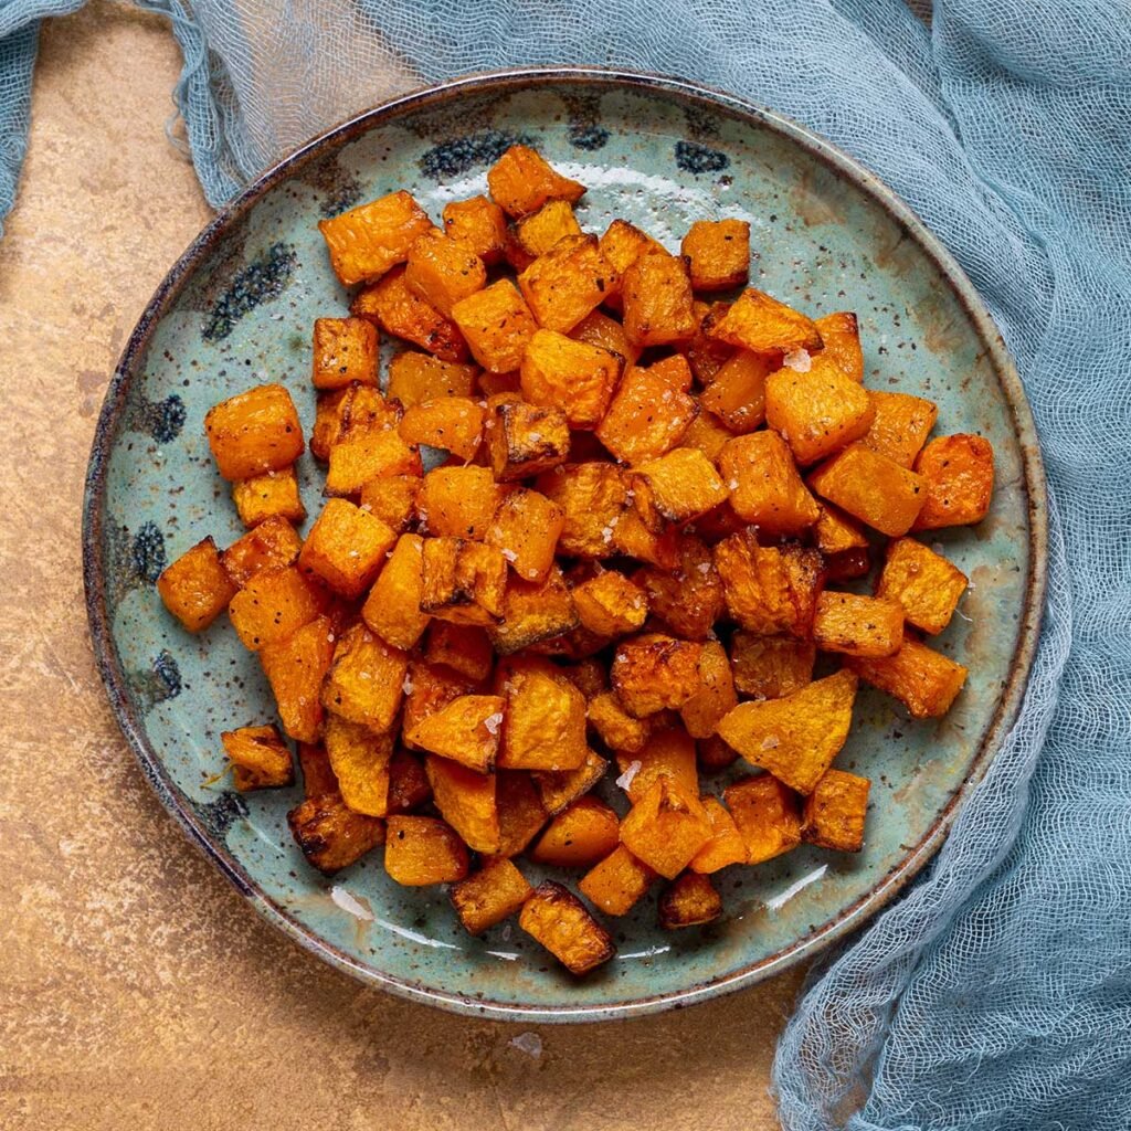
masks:
[[[155,18],[53,23],[0,243],[0,1128],[761,1131],[789,975],[687,1012],[521,1031],[366,990],[269,929],[118,733],[86,637],[83,476],[122,343],[208,218],[166,141]]]

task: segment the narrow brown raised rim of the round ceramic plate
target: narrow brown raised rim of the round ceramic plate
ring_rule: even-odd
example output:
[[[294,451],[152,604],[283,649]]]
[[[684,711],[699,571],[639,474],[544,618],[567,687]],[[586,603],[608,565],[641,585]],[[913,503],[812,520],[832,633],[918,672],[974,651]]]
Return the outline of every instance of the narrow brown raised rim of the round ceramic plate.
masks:
[[[1022,485],[1028,511],[1029,571],[1020,612],[1017,646],[1009,676],[998,699],[985,737],[974,754],[969,771],[956,787],[946,806],[938,813],[918,844],[870,891],[841,910],[836,918],[795,940],[791,946],[757,962],[707,982],[667,993],[619,1002],[579,1005],[524,1005],[435,990],[409,979],[394,977],[360,962],[327,939],[321,938],[311,927],[299,922],[267,896],[227,851],[226,845],[213,839],[199,818],[189,806],[181,803],[176,787],[146,737],[145,728],[133,710],[126,690],[124,673],[111,627],[106,601],[106,577],[102,566],[103,510],[107,458],[122,416],[127,394],[139,372],[138,362],[145,355],[155,328],[173,301],[180,295],[199,262],[226,235],[230,228],[243,219],[267,191],[288,179],[310,161],[321,157],[327,152],[348,143],[370,129],[394,121],[413,110],[458,100],[460,96],[484,90],[502,92],[533,86],[586,84],[606,88],[661,90],[685,103],[698,103],[715,111],[722,110],[729,116],[745,121],[757,129],[769,129],[847,178],[905,228],[934,262],[936,269],[947,278],[952,293],[970,318],[986,348],[1012,415],[1013,430],[1021,454]],[[232,201],[218,210],[158,284],[130,334],[107,386],[98,413],[87,465],[83,498],[81,553],[86,611],[95,662],[105,685],[111,709],[127,744],[132,750],[146,780],[164,808],[176,819],[189,839],[206,853],[260,915],[305,950],[352,975],[363,984],[375,985],[397,996],[425,1002],[464,1016],[524,1024],[553,1024],[640,1017],[666,1009],[683,1008],[753,985],[826,949],[890,903],[939,851],[964,800],[985,776],[990,763],[1001,749],[1002,742],[1017,718],[1041,633],[1046,585],[1047,537],[1047,489],[1044,466],[1033,413],[1020,377],[1004,339],[974,284],[909,205],[832,143],[784,114],[727,92],[676,76],[648,71],[589,66],[532,66],[461,75],[387,100],[303,143],[267,169]]]

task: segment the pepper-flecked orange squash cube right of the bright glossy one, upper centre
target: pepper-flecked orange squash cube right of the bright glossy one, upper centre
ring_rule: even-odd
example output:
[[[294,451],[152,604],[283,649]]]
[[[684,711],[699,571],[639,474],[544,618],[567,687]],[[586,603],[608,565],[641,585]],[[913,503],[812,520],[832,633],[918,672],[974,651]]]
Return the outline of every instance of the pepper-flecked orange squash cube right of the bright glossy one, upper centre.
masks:
[[[675,355],[690,383],[688,363]],[[630,369],[620,383],[597,439],[624,464],[641,464],[671,451],[699,413],[693,397],[672,381],[667,360]]]

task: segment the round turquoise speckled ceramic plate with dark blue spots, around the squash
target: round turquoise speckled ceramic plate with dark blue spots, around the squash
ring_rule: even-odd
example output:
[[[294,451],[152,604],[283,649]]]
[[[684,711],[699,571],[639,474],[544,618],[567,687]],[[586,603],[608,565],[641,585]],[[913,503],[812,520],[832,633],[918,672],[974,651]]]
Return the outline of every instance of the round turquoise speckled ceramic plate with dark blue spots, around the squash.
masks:
[[[294,789],[241,797],[222,729],[273,717],[256,659],[226,619],[200,637],[154,581],[206,534],[241,533],[205,442],[216,400],[265,380],[313,420],[316,317],[345,311],[316,222],[407,188],[439,216],[485,189],[512,141],[589,187],[582,226],[614,215],[675,249],[693,218],[750,221],[752,280],[809,312],[854,310],[866,381],[939,404],[939,432],[988,437],[993,510],[939,532],[972,587],[939,646],[972,668],[950,715],[909,723],[863,689],[837,765],[873,780],[858,856],[804,847],[719,881],[726,916],[675,934],[655,895],[614,921],[619,955],[575,981],[517,926],[467,936],[439,890],[391,883],[380,852],[333,879],[286,828]],[[316,510],[321,474],[300,460]],[[860,926],[938,848],[1011,724],[1039,627],[1044,484],[1033,422],[969,282],[910,210],[802,128],[679,79],[592,69],[473,76],[388,103],[312,141],[222,213],[170,271],[106,395],[87,480],[84,551],[95,650],[122,729],[164,804],[268,920],[325,960],[394,993],[524,1021],[620,1018],[749,985]],[[705,779],[716,788],[718,779]],[[533,875],[537,869],[529,870]]]

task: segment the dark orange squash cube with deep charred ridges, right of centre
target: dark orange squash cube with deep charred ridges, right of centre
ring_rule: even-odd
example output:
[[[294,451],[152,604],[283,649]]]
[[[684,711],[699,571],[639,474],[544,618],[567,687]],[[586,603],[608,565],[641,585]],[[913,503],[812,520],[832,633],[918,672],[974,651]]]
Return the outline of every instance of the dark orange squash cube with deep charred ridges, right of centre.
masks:
[[[760,546],[749,530],[715,546],[726,607],[759,636],[809,638],[824,582],[821,555],[797,545]]]

